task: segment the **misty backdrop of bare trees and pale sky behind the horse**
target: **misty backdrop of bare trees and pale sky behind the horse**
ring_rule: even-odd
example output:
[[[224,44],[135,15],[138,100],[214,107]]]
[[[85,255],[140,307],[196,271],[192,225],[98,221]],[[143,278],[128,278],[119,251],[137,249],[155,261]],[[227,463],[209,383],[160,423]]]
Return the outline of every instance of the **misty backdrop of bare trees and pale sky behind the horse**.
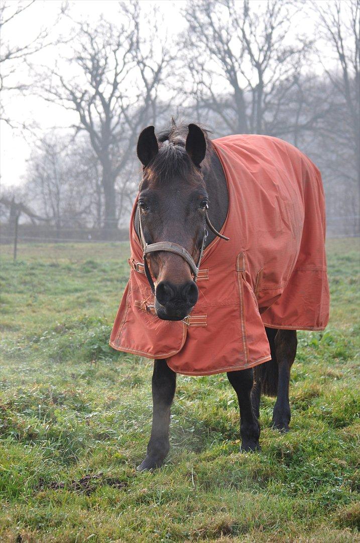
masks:
[[[359,5],[2,2],[4,241],[19,213],[24,239],[126,237],[138,134],[171,116],[291,142],[322,171],[329,235],[357,235]]]

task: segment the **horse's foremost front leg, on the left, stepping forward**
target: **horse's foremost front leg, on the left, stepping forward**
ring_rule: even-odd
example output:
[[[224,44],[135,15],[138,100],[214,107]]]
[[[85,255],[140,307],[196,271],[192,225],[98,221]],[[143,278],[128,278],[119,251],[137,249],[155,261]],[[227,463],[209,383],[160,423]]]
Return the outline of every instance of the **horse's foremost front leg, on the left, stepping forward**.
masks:
[[[152,428],[147,453],[139,471],[159,468],[169,452],[170,407],[175,394],[176,373],[165,360],[155,360],[152,374]]]

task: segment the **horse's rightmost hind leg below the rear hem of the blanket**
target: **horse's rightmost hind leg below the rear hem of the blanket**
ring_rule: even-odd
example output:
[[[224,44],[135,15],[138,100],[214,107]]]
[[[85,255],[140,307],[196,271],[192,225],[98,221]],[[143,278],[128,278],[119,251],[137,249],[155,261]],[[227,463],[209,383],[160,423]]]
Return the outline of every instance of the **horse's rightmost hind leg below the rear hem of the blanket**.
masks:
[[[273,428],[287,432],[291,417],[289,402],[290,370],[298,345],[296,330],[279,330],[275,336],[274,343],[279,380],[278,397],[273,411]]]

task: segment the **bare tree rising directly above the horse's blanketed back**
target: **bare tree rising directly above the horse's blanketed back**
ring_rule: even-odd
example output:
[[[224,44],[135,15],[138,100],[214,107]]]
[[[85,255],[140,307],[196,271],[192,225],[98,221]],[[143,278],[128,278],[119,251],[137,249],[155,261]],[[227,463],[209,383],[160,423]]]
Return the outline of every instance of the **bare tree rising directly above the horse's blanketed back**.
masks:
[[[188,2],[184,45],[191,93],[201,109],[216,112],[228,132],[273,132],[309,49],[305,41],[287,43],[293,17],[292,3],[284,0],[263,2],[260,11],[249,0]]]

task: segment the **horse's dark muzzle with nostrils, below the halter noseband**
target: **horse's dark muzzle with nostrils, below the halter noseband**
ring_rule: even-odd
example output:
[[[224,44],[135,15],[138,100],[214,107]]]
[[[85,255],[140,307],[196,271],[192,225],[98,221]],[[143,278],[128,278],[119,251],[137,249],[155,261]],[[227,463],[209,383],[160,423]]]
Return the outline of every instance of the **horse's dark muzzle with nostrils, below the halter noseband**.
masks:
[[[155,291],[155,310],[159,319],[182,320],[197,302],[198,289],[194,281],[174,285],[161,281]]]

